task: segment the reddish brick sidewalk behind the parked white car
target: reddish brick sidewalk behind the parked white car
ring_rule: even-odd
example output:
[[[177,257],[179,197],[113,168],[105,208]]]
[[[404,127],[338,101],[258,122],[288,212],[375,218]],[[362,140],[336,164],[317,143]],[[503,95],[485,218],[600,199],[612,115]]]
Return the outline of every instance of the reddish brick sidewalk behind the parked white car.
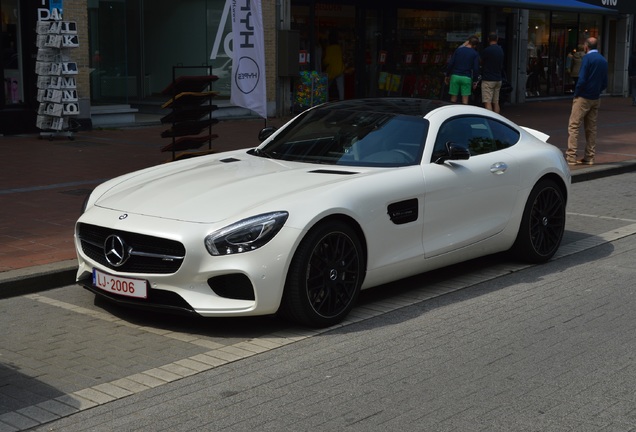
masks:
[[[570,99],[504,106],[519,125],[550,135],[565,150]],[[254,147],[264,120],[227,120],[213,127],[215,151]],[[271,125],[280,124],[272,120]],[[0,137],[0,298],[73,283],[73,226],[99,183],[163,163],[166,125],[79,132],[74,140],[39,135]],[[584,143],[580,143],[582,148]],[[630,98],[601,102],[596,165],[571,167],[573,182],[636,169],[636,107]]]

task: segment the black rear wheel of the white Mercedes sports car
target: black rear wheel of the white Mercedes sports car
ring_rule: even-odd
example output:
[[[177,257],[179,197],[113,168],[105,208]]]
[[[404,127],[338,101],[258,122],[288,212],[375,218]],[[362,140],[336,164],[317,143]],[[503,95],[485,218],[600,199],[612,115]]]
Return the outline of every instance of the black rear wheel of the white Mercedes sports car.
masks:
[[[531,263],[554,256],[565,231],[565,197],[549,179],[540,181],[530,192],[514,246],[515,255]]]

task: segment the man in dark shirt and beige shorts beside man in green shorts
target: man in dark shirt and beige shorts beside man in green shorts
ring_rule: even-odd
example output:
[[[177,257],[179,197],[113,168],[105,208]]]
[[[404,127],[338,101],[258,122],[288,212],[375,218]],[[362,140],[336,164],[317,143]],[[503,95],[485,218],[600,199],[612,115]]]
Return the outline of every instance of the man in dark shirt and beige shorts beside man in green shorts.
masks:
[[[481,100],[484,107],[499,113],[499,93],[503,79],[503,49],[496,33],[488,35],[488,46],[481,52]]]

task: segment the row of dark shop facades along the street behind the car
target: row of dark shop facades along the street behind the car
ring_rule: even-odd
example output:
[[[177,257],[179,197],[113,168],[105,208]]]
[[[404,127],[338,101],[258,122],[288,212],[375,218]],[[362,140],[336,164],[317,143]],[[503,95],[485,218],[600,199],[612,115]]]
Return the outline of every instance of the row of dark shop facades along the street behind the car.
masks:
[[[244,0],[249,1],[249,0]],[[107,107],[157,110],[175,66],[210,68],[229,105],[231,24],[226,0],[0,0],[0,133],[37,131],[36,22],[61,5],[78,25],[79,118]],[[470,35],[499,35],[513,103],[572,92],[571,54],[599,37],[608,93],[625,95],[636,2],[628,0],[263,0],[268,115],[307,105],[300,74],[320,75],[330,35],[342,47],[345,97],[443,98],[443,70]],[[318,82],[316,82],[318,85]],[[337,97],[322,88],[327,97]],[[315,103],[320,98],[312,99]],[[122,108],[124,107],[124,108]]]

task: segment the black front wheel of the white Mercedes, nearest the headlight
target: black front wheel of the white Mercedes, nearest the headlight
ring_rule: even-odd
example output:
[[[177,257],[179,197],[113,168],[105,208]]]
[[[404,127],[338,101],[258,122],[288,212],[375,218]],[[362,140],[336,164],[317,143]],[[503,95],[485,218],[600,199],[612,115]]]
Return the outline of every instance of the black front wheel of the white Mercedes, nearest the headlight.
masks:
[[[310,327],[341,322],[353,308],[365,274],[356,232],[340,221],[313,228],[292,259],[280,313]]]

